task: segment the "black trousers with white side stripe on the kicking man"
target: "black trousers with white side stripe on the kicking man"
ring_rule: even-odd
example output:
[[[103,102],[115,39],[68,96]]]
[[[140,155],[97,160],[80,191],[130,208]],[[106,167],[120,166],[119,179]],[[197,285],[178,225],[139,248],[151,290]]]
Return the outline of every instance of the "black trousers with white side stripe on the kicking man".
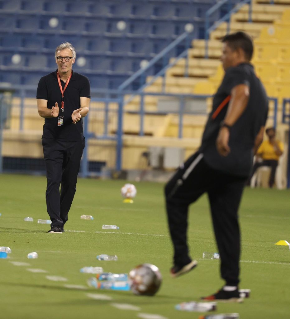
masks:
[[[192,155],[165,186],[166,209],[174,247],[174,264],[191,261],[187,245],[188,206],[208,193],[212,223],[227,285],[239,283],[240,227],[238,208],[246,177],[231,176],[209,167],[203,154]]]

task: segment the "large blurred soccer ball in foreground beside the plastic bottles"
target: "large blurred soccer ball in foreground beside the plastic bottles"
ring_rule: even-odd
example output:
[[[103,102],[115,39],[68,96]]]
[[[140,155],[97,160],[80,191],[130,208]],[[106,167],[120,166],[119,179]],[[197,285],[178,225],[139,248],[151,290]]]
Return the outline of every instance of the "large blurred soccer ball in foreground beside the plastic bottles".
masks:
[[[162,276],[158,267],[143,263],[129,272],[128,281],[135,295],[153,296],[161,285]]]

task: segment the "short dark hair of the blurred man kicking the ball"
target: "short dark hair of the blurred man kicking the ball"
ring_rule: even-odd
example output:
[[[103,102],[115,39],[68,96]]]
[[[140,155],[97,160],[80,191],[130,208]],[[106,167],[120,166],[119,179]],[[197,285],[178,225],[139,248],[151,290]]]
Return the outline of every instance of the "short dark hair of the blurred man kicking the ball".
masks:
[[[227,42],[227,45],[234,51],[241,48],[245,53],[245,58],[251,61],[254,52],[254,45],[249,34],[243,31],[227,34],[223,37],[222,42]]]

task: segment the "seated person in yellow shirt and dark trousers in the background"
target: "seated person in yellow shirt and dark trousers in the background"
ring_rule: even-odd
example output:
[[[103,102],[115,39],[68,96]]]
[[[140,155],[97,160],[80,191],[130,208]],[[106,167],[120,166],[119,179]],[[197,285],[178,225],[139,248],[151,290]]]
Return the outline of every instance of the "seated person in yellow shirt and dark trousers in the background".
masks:
[[[250,183],[257,168],[261,166],[268,166],[271,167],[269,187],[272,188],[275,182],[275,174],[279,157],[283,154],[284,146],[282,142],[276,139],[276,130],[274,127],[266,129],[266,134],[269,140],[263,141],[257,151],[256,162],[254,164],[248,183]]]

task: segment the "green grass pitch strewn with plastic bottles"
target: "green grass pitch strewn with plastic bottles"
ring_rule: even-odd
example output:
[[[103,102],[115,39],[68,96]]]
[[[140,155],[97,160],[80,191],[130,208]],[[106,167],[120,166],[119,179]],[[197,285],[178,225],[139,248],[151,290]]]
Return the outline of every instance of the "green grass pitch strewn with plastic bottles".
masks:
[[[169,277],[172,246],[164,210],[163,185],[139,182],[134,204],[123,204],[120,189],[124,181],[79,179],[77,192],[64,234],[47,234],[45,205],[46,179],[42,176],[0,175],[0,246],[12,253],[0,259],[0,317],[5,319],[42,318],[138,318],[139,313],[158,314],[168,319],[198,318],[200,313],[181,312],[174,306],[198,300],[223,284],[219,261],[202,260],[202,253],[215,252],[207,197],[190,207],[188,230],[191,256],[197,268],[180,278]],[[242,304],[219,303],[214,313],[237,312],[242,319],[290,318],[290,251],[275,246],[290,241],[289,191],[245,189],[240,221],[242,228],[241,284],[250,288],[250,298]],[[82,220],[80,215],[93,215]],[[33,222],[25,222],[33,217]],[[103,224],[120,227],[102,230]],[[71,232],[69,231],[71,230]],[[82,231],[82,232],[72,232]],[[38,259],[27,259],[29,252]],[[116,254],[118,261],[98,261],[98,254]],[[13,261],[29,263],[15,266]],[[163,275],[154,297],[131,292],[69,289],[86,285],[90,274],[84,266],[102,266],[104,271],[128,272],[140,263],[157,265]],[[33,273],[27,268],[43,269]],[[67,282],[46,278],[61,276]],[[111,300],[94,300],[88,293],[100,293]],[[140,310],[119,310],[112,303],[126,303]]]

